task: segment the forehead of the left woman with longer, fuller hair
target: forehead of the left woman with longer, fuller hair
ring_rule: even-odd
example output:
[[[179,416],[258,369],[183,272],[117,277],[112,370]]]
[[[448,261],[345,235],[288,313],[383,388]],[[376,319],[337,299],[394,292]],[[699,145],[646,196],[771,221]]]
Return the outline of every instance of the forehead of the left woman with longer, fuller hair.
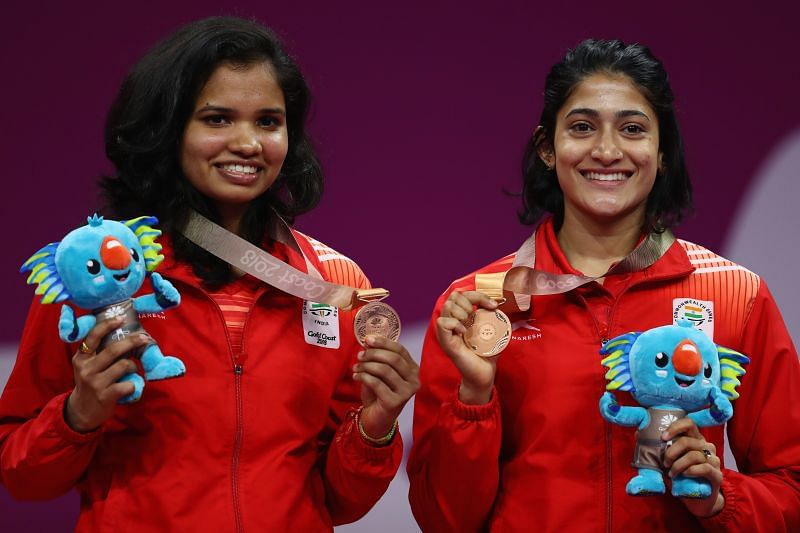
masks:
[[[252,64],[222,63],[211,73],[200,90],[197,101],[204,105],[209,100],[228,98],[277,99],[282,106],[283,90],[272,65],[267,61]]]

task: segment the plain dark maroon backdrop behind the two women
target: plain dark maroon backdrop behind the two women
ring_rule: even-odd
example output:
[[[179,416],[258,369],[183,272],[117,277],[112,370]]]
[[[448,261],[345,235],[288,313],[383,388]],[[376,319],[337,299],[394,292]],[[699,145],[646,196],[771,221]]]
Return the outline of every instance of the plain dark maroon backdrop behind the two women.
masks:
[[[391,289],[408,322],[526,236],[503,190],[519,189],[549,66],[581,39],[643,42],[666,64],[698,211],[681,237],[719,248],[756,169],[800,127],[795,2],[356,4],[3,8],[0,343],[18,339],[32,294],[19,265],[98,205],[94,183],[110,170],[104,115],[127,69],[195,18],[256,17],[284,38],[312,87],[327,176],[321,206],[298,226]],[[74,505],[14,504],[0,489],[0,529],[69,530]]]

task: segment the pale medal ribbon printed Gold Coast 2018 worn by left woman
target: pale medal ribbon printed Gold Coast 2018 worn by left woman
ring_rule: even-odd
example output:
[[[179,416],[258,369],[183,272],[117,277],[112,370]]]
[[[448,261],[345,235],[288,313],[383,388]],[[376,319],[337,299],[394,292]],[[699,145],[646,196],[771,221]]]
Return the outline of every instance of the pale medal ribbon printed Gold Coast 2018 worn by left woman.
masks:
[[[306,262],[308,274],[277,259],[195,211],[189,215],[189,221],[181,233],[196,245],[239,270],[303,300],[324,303],[349,311],[389,296],[389,291],[386,289],[354,289],[322,279],[322,275],[303,253],[289,225],[277,214],[270,237],[298,252]]]

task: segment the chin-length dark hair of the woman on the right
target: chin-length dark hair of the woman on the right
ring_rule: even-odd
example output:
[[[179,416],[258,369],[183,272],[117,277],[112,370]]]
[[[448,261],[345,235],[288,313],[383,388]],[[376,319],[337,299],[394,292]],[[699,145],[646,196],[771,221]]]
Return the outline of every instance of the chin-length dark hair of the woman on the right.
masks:
[[[622,41],[589,39],[569,50],[553,65],[545,81],[544,109],[539,126],[525,149],[522,161],[523,224],[534,224],[551,213],[556,227],[564,219],[564,193],[555,169],[548,169],[540,150],[552,149],[558,111],[585,78],[608,73],[624,75],[641,91],[658,116],[659,170],[647,198],[645,231],[664,231],[692,211],[692,184],[686,169],[683,142],[673,107],[674,97],[667,72],[646,46]]]

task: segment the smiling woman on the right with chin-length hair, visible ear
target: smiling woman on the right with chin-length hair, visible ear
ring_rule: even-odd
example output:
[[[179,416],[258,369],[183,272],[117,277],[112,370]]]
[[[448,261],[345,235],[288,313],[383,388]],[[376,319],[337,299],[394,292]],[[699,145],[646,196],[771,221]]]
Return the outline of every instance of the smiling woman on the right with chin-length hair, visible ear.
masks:
[[[520,218],[538,224],[534,236],[453,282],[425,338],[408,464],[422,529],[800,530],[797,352],[763,279],[669,231],[692,194],[661,62],[620,41],[570,50],[547,77],[522,170]],[[476,309],[502,303],[490,281],[512,266],[554,287],[582,281],[533,291],[528,304],[506,292],[503,308],[517,304],[508,346],[481,357],[462,336]],[[687,306],[697,328],[750,359],[727,425],[738,471],[724,464],[724,427],[685,417],[656,433],[665,451],[644,467],[648,484],[629,485],[634,428],[601,416],[600,350],[628,332],[686,325]],[[708,493],[673,496],[682,479],[706,480]]]

